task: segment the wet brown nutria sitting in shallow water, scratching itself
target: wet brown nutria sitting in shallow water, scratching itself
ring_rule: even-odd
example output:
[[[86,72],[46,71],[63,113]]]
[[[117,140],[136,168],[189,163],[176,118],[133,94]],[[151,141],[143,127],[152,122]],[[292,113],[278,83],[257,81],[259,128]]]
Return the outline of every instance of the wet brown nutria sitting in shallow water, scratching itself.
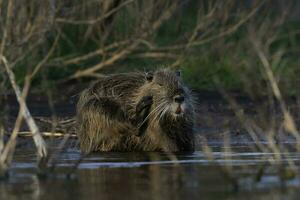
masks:
[[[168,69],[103,77],[77,104],[80,148],[194,151],[194,104],[180,73]]]

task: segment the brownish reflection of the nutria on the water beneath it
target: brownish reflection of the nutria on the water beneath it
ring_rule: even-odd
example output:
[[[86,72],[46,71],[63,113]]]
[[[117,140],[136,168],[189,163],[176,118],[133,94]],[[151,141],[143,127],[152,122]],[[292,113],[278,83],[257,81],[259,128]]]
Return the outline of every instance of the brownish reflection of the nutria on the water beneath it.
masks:
[[[107,156],[114,157],[113,155]],[[142,163],[151,163],[151,160],[166,159],[166,156],[162,157],[160,154],[154,153],[123,154],[123,156],[133,163],[141,160]],[[117,159],[115,161],[117,162]],[[98,196],[104,199],[118,197],[148,199],[151,197],[158,200],[170,197],[177,199],[181,196],[181,188],[187,188],[186,185],[189,184],[182,175],[191,175],[195,167],[193,165],[181,167],[174,164],[163,167],[159,164],[135,167],[130,163],[126,167],[125,164],[122,167],[112,165],[112,167],[105,166],[94,170],[81,167],[81,170],[78,171],[81,197]]]

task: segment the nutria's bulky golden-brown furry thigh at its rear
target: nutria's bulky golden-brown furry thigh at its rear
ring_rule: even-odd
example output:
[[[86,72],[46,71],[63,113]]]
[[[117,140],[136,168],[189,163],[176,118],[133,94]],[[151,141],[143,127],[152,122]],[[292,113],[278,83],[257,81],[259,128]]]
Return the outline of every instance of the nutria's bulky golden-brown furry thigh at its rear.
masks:
[[[111,98],[93,97],[78,107],[78,137],[86,153],[122,149],[124,135],[137,132],[119,103]]]

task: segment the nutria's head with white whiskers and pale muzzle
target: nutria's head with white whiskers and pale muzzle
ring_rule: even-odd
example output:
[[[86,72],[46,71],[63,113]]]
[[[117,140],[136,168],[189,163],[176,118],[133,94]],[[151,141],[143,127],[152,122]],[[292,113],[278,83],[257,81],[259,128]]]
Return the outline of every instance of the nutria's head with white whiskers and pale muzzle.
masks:
[[[174,119],[185,118],[192,112],[189,89],[184,85],[179,71],[168,69],[146,74],[153,97],[152,111],[159,118],[167,115]]]

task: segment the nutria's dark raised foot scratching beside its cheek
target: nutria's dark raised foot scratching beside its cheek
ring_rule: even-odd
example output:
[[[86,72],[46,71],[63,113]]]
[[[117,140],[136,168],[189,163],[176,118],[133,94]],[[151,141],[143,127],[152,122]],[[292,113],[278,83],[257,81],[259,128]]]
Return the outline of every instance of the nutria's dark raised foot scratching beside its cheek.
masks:
[[[148,127],[147,117],[150,114],[152,103],[152,96],[144,96],[136,105],[135,123],[138,127],[138,136],[143,135]]]

